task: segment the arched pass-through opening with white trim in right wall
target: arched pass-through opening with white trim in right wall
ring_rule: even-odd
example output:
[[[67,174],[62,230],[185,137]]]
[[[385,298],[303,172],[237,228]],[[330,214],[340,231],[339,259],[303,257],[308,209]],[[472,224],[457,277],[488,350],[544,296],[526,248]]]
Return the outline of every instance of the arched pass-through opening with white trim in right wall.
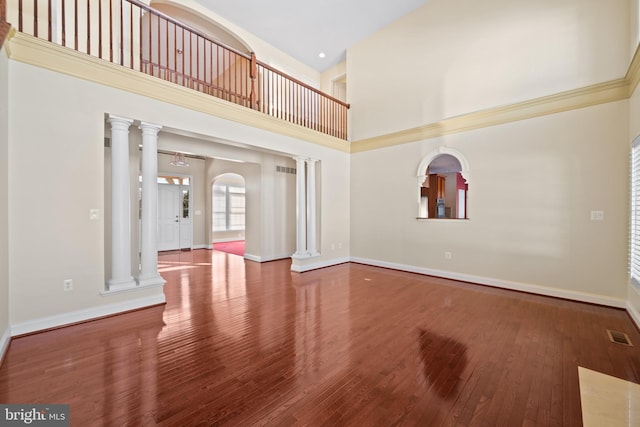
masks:
[[[469,162],[449,147],[426,155],[416,172],[419,219],[468,219]]]

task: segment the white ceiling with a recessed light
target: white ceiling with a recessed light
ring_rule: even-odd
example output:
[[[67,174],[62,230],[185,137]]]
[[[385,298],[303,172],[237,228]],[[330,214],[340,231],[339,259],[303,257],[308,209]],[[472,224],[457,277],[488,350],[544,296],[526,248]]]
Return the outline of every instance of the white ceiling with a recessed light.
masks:
[[[324,71],[348,47],[427,0],[196,0],[290,56]],[[324,52],[326,57],[318,55]]]

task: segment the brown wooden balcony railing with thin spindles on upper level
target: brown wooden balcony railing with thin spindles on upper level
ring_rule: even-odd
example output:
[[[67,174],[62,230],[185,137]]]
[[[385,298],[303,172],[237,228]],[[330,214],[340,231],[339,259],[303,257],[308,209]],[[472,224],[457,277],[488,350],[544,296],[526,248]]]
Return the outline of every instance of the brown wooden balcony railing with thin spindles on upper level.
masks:
[[[137,0],[6,1],[20,32],[347,139],[348,104]]]

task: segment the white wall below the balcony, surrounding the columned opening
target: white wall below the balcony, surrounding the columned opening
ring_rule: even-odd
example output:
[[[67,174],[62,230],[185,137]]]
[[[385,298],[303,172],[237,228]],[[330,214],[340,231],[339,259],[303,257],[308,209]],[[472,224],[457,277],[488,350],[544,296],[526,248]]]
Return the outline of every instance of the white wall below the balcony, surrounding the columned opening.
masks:
[[[100,294],[105,224],[104,219],[90,221],[89,210],[104,212],[105,113],[156,123],[164,126],[163,132],[182,129],[199,139],[233,141],[249,148],[247,156],[257,156],[253,147],[318,159],[326,171],[321,179],[321,241],[343,245],[317,261],[330,263],[348,256],[346,153],[16,61],[9,61],[9,87],[12,327],[35,328],[63,321],[69,313],[88,315],[110,304],[155,298],[162,292]],[[164,139],[159,138],[160,149],[166,148]],[[200,141],[200,146],[209,144]],[[74,290],[65,293],[62,282],[68,278],[74,280]]]

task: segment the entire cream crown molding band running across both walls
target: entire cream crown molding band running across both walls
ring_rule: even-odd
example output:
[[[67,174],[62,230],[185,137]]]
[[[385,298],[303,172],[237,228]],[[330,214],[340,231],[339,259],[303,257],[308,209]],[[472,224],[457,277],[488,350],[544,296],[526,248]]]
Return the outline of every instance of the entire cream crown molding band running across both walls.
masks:
[[[131,70],[10,28],[5,40],[9,59],[126,90],[226,120],[278,133],[346,153],[358,153],[444,135],[497,126],[628,99],[640,83],[640,49],[623,78],[528,101],[493,107],[435,123],[353,141],[350,144],[305,127]]]

